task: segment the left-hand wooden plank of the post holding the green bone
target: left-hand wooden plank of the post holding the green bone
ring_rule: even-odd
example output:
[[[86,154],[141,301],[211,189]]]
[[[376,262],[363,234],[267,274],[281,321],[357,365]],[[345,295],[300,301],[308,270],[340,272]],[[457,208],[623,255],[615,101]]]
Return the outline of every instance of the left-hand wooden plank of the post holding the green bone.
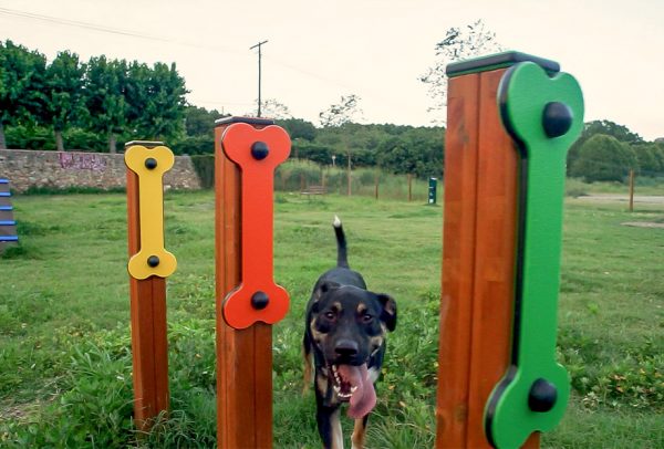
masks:
[[[468,414],[479,76],[449,80],[436,448],[465,445]]]

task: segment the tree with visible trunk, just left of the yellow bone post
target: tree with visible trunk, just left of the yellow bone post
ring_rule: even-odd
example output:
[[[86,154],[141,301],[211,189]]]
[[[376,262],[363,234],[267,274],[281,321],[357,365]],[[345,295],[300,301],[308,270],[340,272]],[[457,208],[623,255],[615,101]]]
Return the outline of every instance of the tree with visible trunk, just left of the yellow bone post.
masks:
[[[117,135],[126,130],[128,104],[125,101],[127,63],[91,58],[85,70],[85,107],[89,126],[108,139],[108,152],[116,152]]]

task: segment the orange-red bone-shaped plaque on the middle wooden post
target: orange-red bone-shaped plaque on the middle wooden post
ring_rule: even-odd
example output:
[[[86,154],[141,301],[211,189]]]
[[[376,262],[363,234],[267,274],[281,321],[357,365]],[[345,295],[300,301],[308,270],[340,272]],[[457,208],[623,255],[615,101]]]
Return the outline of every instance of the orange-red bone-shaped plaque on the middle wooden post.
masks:
[[[289,306],[288,292],[273,280],[272,192],[274,169],[290,154],[290,137],[279,126],[256,129],[230,125],[221,137],[226,156],[241,171],[241,283],[224,300],[224,319],[235,328],[258,321],[274,324]]]

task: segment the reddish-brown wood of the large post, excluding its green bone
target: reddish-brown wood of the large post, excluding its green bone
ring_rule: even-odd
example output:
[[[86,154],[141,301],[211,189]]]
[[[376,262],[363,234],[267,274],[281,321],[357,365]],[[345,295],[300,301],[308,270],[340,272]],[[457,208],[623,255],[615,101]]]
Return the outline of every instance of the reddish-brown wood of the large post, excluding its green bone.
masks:
[[[485,406],[510,364],[518,152],[496,96],[516,62],[448,67],[436,448],[490,447]]]

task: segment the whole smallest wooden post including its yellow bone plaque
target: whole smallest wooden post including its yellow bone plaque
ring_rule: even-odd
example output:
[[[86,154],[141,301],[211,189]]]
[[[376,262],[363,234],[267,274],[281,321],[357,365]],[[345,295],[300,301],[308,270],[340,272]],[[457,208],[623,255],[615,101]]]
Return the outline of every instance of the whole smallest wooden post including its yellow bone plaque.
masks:
[[[145,430],[169,400],[166,276],[175,258],[163,247],[162,176],[173,166],[173,153],[160,142],[125,147],[134,417]]]

